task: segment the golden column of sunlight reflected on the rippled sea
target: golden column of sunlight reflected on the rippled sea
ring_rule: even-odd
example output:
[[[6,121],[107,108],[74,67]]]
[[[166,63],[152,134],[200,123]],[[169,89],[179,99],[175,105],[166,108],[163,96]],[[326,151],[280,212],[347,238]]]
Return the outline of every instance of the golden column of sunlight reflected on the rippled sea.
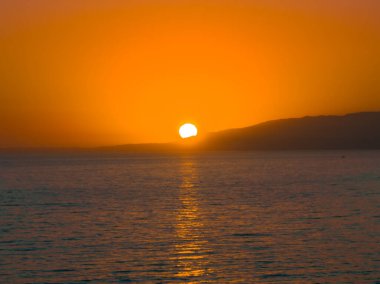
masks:
[[[199,180],[195,162],[184,160],[180,166],[180,207],[176,216],[176,277],[197,279],[212,273],[208,265],[210,248],[204,238],[204,223],[199,207]],[[195,283],[195,282],[194,282]]]

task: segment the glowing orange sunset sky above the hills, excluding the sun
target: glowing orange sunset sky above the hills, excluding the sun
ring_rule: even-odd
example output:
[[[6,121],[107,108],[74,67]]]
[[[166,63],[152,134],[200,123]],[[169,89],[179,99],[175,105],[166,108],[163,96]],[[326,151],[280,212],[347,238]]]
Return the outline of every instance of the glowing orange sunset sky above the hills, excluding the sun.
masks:
[[[380,110],[380,1],[0,2],[0,147]]]

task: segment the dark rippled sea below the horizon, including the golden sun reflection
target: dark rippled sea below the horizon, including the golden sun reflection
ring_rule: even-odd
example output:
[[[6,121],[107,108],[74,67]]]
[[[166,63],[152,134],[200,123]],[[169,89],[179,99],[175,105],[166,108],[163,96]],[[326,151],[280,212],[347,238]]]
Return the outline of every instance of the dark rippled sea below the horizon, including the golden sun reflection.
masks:
[[[379,194],[374,151],[3,156],[0,282],[376,283]]]

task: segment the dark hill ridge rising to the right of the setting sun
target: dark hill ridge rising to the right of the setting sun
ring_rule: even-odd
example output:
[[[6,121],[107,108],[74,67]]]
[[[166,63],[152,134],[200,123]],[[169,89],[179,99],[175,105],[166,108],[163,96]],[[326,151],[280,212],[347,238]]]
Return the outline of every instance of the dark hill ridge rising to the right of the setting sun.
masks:
[[[280,119],[212,133],[204,150],[380,149],[380,112]]]

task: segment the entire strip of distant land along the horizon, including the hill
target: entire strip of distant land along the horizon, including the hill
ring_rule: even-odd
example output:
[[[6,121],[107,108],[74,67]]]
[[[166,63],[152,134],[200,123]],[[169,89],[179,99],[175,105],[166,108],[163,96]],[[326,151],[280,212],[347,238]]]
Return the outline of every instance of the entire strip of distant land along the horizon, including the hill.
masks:
[[[380,150],[380,112],[272,120],[209,133],[201,140],[102,147],[8,147],[0,153],[203,153],[214,151]]]

